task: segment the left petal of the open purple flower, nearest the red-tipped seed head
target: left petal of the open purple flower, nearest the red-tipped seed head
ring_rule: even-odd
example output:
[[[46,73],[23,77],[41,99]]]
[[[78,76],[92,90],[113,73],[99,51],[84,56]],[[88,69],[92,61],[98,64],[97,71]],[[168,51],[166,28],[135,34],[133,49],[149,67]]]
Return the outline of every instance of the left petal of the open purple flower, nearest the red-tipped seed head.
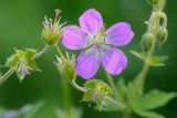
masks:
[[[80,28],[69,26],[64,31],[62,43],[70,50],[82,50],[87,46],[88,40]]]

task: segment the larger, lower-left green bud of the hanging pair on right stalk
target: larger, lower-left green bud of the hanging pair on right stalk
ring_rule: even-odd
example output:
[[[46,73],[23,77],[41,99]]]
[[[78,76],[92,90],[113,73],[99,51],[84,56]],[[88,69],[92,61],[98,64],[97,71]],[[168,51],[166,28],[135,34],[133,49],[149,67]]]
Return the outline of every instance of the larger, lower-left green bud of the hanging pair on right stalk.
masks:
[[[142,44],[142,49],[145,52],[149,52],[154,46],[154,43],[155,43],[154,34],[147,32],[143,35],[140,44]]]

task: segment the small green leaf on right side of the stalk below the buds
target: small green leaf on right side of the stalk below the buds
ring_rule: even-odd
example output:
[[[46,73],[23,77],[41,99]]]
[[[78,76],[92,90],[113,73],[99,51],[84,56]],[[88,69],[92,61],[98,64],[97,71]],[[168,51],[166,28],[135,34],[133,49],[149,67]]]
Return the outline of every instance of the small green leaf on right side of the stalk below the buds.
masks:
[[[159,67],[165,66],[165,61],[168,58],[168,56],[155,56],[148,61],[148,64],[150,66]]]

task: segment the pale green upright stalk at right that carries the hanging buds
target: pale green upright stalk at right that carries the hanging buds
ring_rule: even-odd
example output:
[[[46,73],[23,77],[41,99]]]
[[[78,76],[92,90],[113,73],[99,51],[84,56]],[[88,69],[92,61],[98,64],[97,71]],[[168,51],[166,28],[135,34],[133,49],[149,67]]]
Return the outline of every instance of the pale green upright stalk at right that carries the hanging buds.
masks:
[[[160,25],[160,18],[164,19],[163,25],[167,26],[167,17],[166,14],[163,12],[164,8],[165,8],[165,3],[166,0],[159,0],[157,6],[153,6],[153,12],[152,15],[149,18],[149,21],[147,23],[147,28],[149,33],[152,33],[153,35],[156,35],[157,30]],[[156,42],[157,39],[154,40],[154,42]],[[144,84],[145,84],[145,78],[147,75],[147,72],[150,67],[148,61],[154,56],[154,52],[155,52],[155,44],[152,46],[150,51],[146,54],[146,58],[145,58],[145,63],[143,66],[142,72],[138,74],[138,78],[139,78],[139,93],[143,94],[144,92]]]

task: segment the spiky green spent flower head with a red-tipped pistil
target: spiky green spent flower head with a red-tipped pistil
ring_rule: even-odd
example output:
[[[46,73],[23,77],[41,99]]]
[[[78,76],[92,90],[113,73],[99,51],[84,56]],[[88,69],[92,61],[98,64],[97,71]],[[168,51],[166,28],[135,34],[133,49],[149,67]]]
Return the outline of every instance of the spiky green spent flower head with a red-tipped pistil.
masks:
[[[59,40],[63,34],[62,26],[64,25],[64,23],[60,24],[60,19],[58,19],[60,12],[61,11],[59,9],[55,10],[54,21],[52,19],[44,18],[42,37],[44,42],[49,45],[58,44]]]

